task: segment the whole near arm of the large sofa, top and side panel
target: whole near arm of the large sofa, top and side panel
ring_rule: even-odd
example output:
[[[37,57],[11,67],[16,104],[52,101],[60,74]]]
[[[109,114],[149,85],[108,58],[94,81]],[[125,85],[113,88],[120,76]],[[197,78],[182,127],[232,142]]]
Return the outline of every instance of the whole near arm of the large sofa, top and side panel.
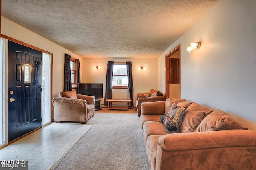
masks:
[[[255,169],[256,131],[220,130],[159,137],[156,170]]]

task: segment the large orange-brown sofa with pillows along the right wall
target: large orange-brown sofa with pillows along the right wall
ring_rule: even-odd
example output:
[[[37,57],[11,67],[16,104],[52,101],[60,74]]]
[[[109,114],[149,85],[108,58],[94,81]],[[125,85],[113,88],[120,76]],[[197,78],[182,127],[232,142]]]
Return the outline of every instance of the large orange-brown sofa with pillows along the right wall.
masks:
[[[256,169],[256,131],[221,110],[184,99],[142,103],[151,170]]]

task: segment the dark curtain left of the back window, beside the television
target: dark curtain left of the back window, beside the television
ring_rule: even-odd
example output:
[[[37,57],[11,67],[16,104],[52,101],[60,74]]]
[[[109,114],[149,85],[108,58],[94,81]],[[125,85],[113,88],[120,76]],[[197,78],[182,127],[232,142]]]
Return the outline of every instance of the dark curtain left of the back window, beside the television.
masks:
[[[106,102],[106,99],[112,99],[113,66],[114,61],[108,61],[104,106],[108,106],[108,102]]]

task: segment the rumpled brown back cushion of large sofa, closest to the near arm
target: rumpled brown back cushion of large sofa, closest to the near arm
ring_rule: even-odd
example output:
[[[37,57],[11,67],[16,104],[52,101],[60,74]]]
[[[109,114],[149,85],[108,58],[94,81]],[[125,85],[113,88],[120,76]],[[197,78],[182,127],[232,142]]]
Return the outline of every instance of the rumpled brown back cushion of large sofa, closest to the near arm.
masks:
[[[222,110],[215,110],[202,120],[195,132],[218,131],[229,129],[243,129],[234,117]]]

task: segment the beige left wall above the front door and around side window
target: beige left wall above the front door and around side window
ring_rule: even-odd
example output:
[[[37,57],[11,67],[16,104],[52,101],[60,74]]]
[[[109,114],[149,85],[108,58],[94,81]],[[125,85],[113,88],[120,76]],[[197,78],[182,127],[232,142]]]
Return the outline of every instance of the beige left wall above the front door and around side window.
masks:
[[[1,34],[53,53],[53,96],[58,96],[58,93],[63,90],[65,53],[80,60],[82,77],[83,62],[80,56],[14,23],[13,21],[8,20],[3,16],[1,17]]]

